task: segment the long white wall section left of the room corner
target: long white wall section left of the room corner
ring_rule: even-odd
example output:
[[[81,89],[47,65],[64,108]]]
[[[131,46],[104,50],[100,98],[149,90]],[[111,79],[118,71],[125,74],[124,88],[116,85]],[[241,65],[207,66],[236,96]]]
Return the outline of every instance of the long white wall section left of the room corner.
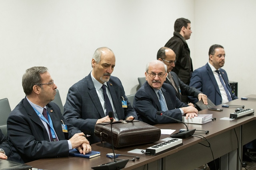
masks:
[[[1,0],[0,11],[0,98],[8,98],[12,109],[25,96],[22,75],[32,66],[49,69],[64,104],[101,46],[113,50],[112,75],[126,95],[133,94],[146,63],[172,36],[176,18],[194,22],[194,1],[186,0]]]

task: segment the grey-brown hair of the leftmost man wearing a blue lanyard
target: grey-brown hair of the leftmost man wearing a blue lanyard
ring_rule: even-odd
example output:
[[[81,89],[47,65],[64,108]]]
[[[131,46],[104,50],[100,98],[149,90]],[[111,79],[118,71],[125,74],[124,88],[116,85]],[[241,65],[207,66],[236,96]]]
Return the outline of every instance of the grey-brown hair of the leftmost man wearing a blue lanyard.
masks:
[[[39,86],[41,84],[41,74],[45,72],[48,72],[46,67],[32,67],[26,70],[22,77],[22,87],[26,95],[30,95],[32,93],[34,85]]]

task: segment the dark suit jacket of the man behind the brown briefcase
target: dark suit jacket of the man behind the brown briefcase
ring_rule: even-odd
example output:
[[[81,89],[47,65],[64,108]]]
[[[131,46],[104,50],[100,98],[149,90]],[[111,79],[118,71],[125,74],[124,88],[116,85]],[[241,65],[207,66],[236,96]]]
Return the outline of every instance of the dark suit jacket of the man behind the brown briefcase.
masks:
[[[110,76],[107,85],[118,119],[124,120],[129,116],[138,119],[135,110],[125,96],[121,81],[117,77]],[[127,101],[127,108],[122,108],[122,96]],[[94,136],[94,126],[98,119],[105,117],[105,113],[92,82],[91,74],[68,90],[66,104],[64,105],[64,117],[70,124],[79,128],[85,134],[90,134],[91,136],[88,137],[90,143],[100,142],[100,138]]]

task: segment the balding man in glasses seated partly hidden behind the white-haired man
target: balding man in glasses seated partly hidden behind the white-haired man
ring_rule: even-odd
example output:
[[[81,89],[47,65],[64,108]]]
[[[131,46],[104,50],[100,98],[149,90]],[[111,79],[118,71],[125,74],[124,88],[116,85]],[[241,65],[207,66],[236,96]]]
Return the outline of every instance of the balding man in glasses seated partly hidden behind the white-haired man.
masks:
[[[203,100],[204,104],[208,104],[207,102],[207,96],[197,90],[196,88],[190,87],[186,85],[184,82],[178,78],[177,74],[175,72],[172,72],[172,69],[175,67],[175,53],[172,49],[168,47],[162,47],[157,52],[157,60],[160,60],[164,62],[167,66],[167,77],[164,83],[168,83],[172,85],[175,89],[175,93],[177,98],[182,101],[181,95],[184,96],[193,96],[198,98],[198,100]],[[186,101],[182,101],[186,103]],[[193,106],[194,104],[189,103],[188,105]]]

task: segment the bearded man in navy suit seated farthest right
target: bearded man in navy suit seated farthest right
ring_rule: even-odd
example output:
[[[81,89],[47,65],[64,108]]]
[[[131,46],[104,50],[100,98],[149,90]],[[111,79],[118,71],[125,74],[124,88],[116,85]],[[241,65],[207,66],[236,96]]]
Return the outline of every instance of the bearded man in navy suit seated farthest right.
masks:
[[[223,104],[231,100],[237,99],[232,94],[228,75],[222,67],[225,63],[224,47],[214,44],[209,50],[209,62],[205,66],[194,70],[189,86],[192,86],[204,94],[215,104]],[[198,102],[198,99],[189,96],[193,103]]]

